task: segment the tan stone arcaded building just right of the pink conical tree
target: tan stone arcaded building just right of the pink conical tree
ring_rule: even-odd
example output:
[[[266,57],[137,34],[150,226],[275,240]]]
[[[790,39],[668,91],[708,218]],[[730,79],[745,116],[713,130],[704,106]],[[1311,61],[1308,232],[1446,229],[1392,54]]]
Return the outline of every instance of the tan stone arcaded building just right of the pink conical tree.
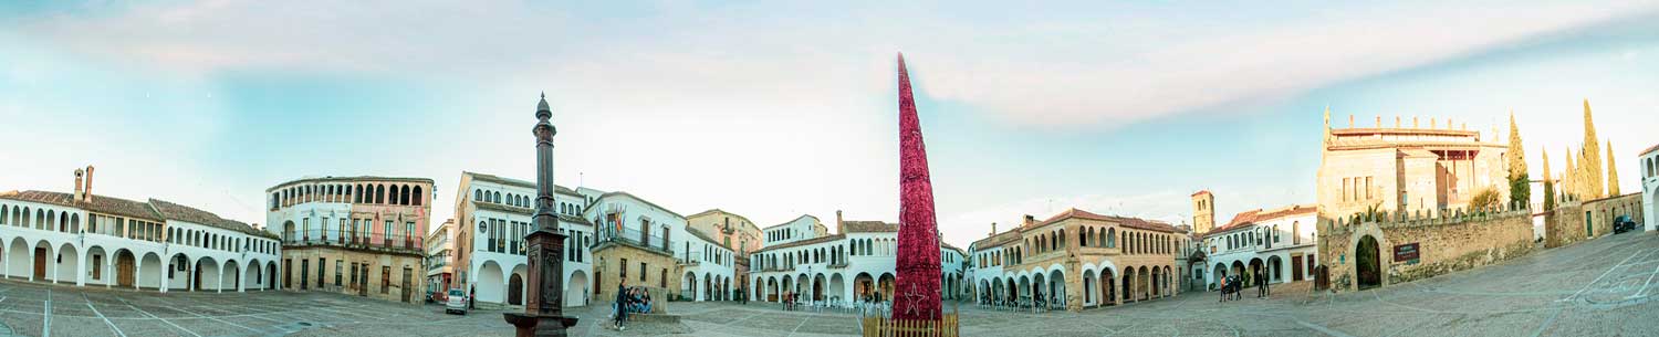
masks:
[[[1068,209],[1040,222],[1025,216],[969,256],[980,305],[1082,310],[1175,295],[1186,246],[1170,224]]]

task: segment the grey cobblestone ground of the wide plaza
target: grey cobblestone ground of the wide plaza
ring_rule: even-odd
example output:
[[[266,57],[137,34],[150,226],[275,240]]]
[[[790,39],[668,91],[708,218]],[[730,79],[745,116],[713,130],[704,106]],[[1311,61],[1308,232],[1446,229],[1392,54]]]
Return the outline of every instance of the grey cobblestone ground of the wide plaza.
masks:
[[[1188,292],[1083,312],[961,307],[962,335],[1659,335],[1659,234],[1618,234],[1468,272],[1340,295],[1306,282],[1271,299]],[[949,307],[949,305],[947,305]],[[856,335],[841,312],[776,304],[670,304],[680,324],[604,329],[602,307],[567,310],[572,335]],[[511,335],[501,310],[446,315],[304,292],[133,292],[0,281],[0,335]]]

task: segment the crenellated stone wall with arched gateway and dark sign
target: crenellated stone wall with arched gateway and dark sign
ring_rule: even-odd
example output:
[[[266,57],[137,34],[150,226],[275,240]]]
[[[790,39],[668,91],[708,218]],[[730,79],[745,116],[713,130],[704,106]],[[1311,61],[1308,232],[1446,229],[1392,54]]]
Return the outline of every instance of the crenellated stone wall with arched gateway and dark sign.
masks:
[[[1367,236],[1377,241],[1379,286],[1496,264],[1535,251],[1531,212],[1525,208],[1442,214],[1321,219],[1319,252],[1326,257],[1321,262],[1329,271],[1331,291],[1359,289],[1355,247]],[[1395,247],[1407,244],[1417,244],[1418,257],[1395,261]]]

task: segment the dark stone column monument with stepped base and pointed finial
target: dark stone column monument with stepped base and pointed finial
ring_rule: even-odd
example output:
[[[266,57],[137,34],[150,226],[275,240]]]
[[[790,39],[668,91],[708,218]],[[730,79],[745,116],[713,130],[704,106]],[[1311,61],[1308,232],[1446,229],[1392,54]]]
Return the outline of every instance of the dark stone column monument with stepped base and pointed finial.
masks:
[[[524,281],[524,314],[503,314],[508,324],[518,327],[518,337],[562,337],[576,325],[576,317],[564,317],[564,234],[559,234],[559,217],[552,203],[552,134],[557,133],[547,118],[547,95],[536,105],[536,231],[524,236],[529,244],[529,277]]]

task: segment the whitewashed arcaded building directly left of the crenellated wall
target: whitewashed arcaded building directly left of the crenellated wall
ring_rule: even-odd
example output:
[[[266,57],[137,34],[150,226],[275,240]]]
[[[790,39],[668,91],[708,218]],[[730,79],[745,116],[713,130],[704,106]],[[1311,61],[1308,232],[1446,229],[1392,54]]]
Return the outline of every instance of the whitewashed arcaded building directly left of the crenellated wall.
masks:
[[[1319,211],[1314,206],[1287,206],[1279,209],[1254,209],[1233,216],[1233,221],[1203,236],[1204,262],[1209,266],[1206,284],[1214,289],[1221,277],[1243,276],[1251,279],[1258,271],[1267,271],[1267,282],[1312,281]]]

